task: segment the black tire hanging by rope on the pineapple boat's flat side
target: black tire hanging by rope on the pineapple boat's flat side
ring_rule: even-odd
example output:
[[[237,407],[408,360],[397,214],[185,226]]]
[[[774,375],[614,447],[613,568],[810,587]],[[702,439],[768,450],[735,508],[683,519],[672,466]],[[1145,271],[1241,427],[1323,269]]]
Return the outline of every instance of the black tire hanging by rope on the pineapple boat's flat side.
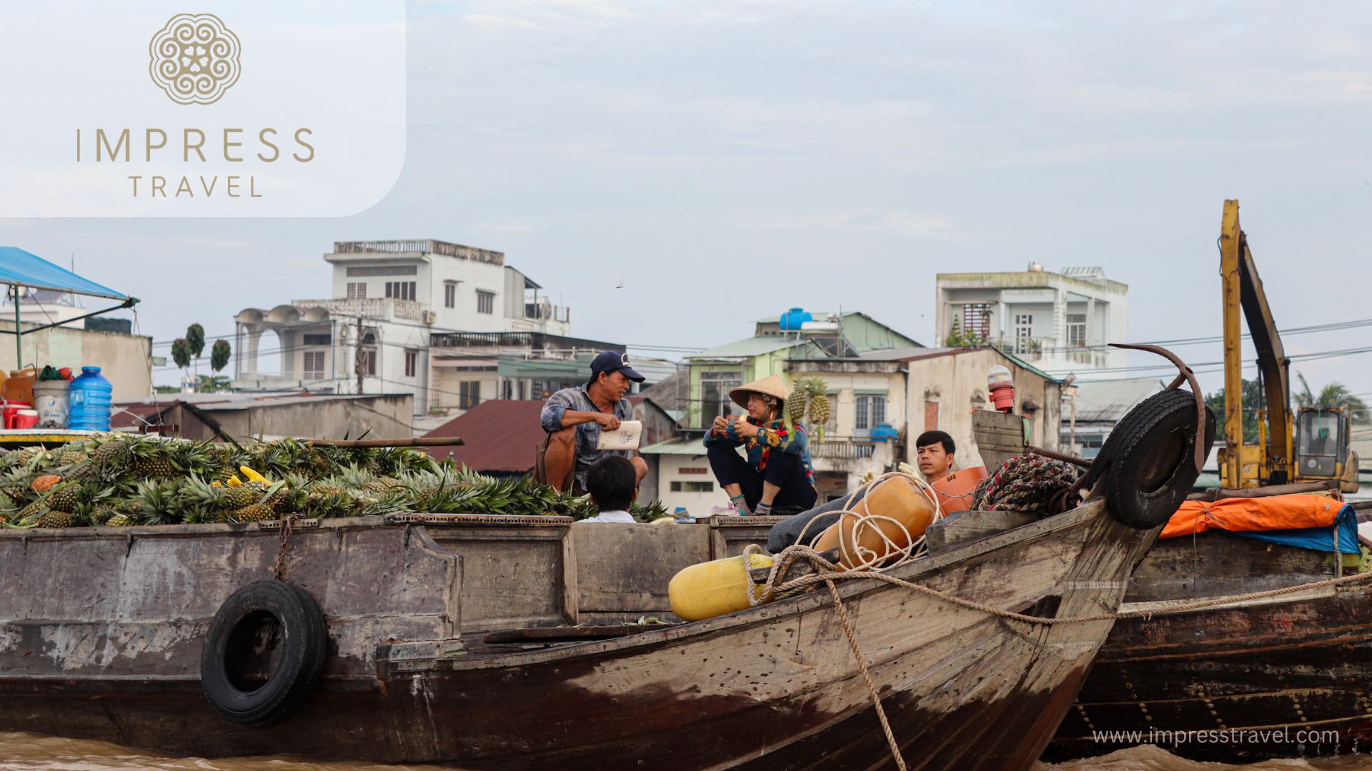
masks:
[[[259,643],[263,624],[276,630],[280,657],[265,683],[241,682],[239,665]],[[200,654],[200,687],[221,715],[255,728],[294,715],[314,690],[328,653],[328,627],[318,602],[300,587],[259,580],[235,591],[210,621]]]

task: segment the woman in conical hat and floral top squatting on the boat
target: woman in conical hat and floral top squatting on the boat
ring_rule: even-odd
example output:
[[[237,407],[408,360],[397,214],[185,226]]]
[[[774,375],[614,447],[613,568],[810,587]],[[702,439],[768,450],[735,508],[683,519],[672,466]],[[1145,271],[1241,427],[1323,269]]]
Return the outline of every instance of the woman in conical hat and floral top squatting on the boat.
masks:
[[[786,384],[768,375],[729,392],[748,410],[735,418],[716,417],[705,435],[705,454],[729,502],[738,513],[767,516],[772,509],[804,510],[815,505],[815,473],[805,449],[805,427],[782,420]],[[738,455],[745,447],[748,458]]]

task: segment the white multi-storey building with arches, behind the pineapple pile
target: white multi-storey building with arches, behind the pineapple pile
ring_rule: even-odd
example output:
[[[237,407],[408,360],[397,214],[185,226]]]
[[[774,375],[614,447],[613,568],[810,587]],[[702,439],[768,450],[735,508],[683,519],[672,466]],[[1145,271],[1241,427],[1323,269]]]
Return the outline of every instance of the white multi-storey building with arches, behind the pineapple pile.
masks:
[[[241,391],[414,394],[416,413],[443,402],[431,384],[434,333],[528,332],[565,336],[569,310],[505,265],[498,251],[436,240],[340,241],[328,299],[244,309],[235,317],[235,380]],[[272,332],[276,344],[262,344]],[[277,373],[259,359],[280,357]]]

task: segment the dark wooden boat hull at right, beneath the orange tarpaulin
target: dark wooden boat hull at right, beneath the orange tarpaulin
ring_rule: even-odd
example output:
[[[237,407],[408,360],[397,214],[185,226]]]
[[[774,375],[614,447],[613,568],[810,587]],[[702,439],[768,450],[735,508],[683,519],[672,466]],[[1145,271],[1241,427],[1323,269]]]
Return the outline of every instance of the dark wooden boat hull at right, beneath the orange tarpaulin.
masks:
[[[1358,569],[1369,568],[1357,556],[1340,565],[1334,554],[1210,531],[1159,541],[1131,579],[1121,610]],[[1045,759],[1150,742],[1227,763],[1365,752],[1372,580],[1118,620]]]

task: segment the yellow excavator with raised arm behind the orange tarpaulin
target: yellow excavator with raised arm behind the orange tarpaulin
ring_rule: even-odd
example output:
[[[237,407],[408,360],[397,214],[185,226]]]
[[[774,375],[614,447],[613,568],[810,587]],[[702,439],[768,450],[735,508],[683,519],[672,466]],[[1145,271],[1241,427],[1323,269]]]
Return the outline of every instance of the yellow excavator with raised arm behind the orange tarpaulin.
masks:
[[[1349,447],[1353,414],[1343,406],[1309,406],[1291,413],[1291,361],[1272,321],[1262,280],[1239,228],[1239,202],[1224,202],[1220,229],[1220,276],[1224,284],[1224,442],[1220,484],[1227,490],[1297,482],[1338,480],[1343,493],[1358,490],[1358,455]],[[1266,410],[1258,410],[1258,440],[1243,443],[1243,357],[1239,309],[1258,354]]]

